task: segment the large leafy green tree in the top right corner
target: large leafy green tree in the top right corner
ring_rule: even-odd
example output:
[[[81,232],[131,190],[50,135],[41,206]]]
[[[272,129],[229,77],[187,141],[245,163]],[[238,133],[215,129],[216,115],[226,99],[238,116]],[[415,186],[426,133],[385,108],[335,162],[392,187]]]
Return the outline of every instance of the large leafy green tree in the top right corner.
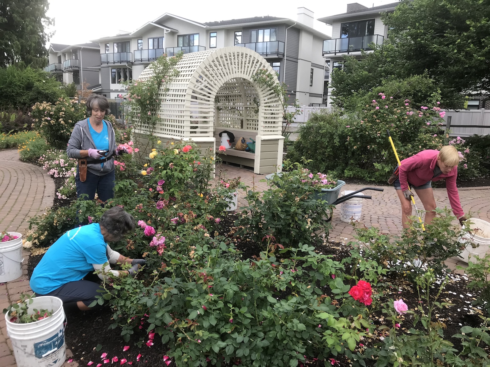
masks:
[[[402,0],[383,21],[398,75],[427,70],[458,92],[490,90],[490,0]]]

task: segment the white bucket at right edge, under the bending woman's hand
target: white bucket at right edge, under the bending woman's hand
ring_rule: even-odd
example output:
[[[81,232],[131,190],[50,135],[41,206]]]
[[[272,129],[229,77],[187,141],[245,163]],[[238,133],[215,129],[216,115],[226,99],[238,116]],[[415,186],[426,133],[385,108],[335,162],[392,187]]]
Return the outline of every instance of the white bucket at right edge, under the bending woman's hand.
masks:
[[[473,248],[471,244],[466,246],[466,249],[461,252],[461,257],[454,257],[457,260],[463,261],[475,261],[474,256],[478,255],[479,257],[484,257],[487,253],[489,253],[490,248],[490,223],[484,221],[480,218],[469,218],[472,224],[469,226],[471,232],[466,233],[460,242],[467,243],[468,241],[478,245],[477,248]],[[471,255],[471,256],[470,256]]]

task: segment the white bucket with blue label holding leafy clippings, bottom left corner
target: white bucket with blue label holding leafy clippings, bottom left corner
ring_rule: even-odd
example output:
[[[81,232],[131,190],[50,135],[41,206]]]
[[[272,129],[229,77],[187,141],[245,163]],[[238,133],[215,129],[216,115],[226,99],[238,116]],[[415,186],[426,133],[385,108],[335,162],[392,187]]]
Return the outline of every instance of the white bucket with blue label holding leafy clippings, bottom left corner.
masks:
[[[5,315],[17,367],[60,367],[66,359],[63,302],[57,297],[35,297],[27,306],[32,313],[34,308],[53,315],[29,323],[10,322],[9,313]]]

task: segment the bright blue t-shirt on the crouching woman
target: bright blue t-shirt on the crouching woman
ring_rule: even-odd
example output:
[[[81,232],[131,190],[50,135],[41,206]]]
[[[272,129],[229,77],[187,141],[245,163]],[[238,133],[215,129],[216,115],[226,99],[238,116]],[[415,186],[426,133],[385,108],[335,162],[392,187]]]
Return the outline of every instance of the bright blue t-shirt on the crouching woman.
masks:
[[[107,262],[107,243],[98,223],[70,229],[51,245],[32,272],[30,287],[45,295],[94,271]]]

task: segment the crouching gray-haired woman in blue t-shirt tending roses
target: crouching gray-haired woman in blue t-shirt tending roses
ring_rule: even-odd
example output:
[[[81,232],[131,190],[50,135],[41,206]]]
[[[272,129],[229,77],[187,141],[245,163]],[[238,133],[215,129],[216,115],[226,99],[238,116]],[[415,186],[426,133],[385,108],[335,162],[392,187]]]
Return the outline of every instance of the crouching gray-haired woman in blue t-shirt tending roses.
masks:
[[[61,298],[65,310],[91,310],[88,306],[100,292],[100,284],[87,280],[95,270],[100,279],[135,275],[144,259],[130,259],[113,251],[107,242],[119,241],[134,230],[134,218],[122,207],[105,211],[99,223],[92,223],[63,234],[45,253],[32,272],[30,287],[37,296]],[[107,264],[131,264],[128,271],[112,270]],[[105,265],[104,265],[105,264]],[[95,276],[94,276],[95,277]]]

